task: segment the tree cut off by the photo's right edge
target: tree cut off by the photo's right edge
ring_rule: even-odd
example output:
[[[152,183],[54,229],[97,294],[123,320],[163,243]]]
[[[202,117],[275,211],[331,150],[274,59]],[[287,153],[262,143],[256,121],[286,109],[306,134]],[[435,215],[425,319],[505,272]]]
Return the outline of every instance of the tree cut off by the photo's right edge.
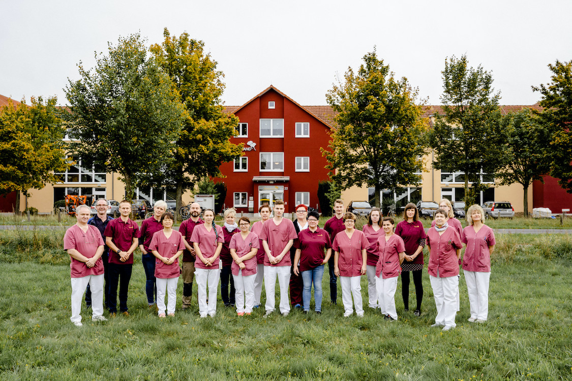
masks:
[[[542,94],[540,114],[542,125],[551,131],[550,175],[572,193],[572,61],[556,61],[548,65],[552,71],[551,82],[534,87]]]

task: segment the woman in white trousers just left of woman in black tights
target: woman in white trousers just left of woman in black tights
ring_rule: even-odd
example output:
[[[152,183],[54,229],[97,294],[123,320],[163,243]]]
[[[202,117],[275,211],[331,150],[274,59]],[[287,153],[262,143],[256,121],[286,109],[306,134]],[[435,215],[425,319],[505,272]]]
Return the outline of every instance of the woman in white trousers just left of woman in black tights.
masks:
[[[395,222],[391,217],[383,219],[383,236],[378,238],[376,248],[379,254],[375,268],[376,287],[382,314],[386,320],[397,320],[395,309],[395,290],[397,278],[401,272],[401,263],[405,258],[403,239],[394,233]]]

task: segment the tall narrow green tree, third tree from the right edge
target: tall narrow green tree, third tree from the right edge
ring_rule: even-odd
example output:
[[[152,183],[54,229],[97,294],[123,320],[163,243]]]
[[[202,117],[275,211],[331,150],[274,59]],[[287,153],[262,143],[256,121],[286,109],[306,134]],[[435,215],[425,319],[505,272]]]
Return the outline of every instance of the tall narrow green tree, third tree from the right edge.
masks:
[[[445,60],[443,74],[444,115],[435,115],[429,144],[435,150],[436,169],[465,174],[466,207],[481,190],[481,173],[493,176],[506,163],[506,123],[502,122],[499,93],[492,75],[479,65],[468,67],[467,57]],[[469,185],[471,184],[471,187]]]

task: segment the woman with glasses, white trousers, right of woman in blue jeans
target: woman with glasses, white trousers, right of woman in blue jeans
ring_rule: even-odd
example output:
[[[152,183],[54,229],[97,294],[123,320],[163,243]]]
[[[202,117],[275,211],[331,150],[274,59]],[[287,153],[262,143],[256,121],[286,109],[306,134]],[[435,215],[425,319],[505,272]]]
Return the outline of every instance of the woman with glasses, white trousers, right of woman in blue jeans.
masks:
[[[362,231],[354,228],[356,223],[355,214],[344,214],[345,230],[336,234],[333,239],[334,272],[340,277],[341,300],[344,303],[344,318],[353,314],[353,306],[356,315],[363,316],[362,301],[362,275],[366,274],[367,252],[370,244]],[[353,296],[353,306],[352,306]]]

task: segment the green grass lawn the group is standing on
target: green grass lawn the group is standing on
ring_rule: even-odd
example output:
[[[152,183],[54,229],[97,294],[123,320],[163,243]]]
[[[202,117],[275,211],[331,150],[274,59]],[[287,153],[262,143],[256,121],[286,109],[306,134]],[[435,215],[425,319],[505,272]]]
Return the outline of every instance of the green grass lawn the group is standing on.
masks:
[[[327,276],[321,315],[293,311],[264,319],[258,309],[238,317],[219,301],[215,318],[200,319],[194,287],[190,311],[180,311],[178,300],[176,316],[159,320],[146,306],[140,255],[129,290],[132,316],[92,323],[84,308],[78,328],[69,320],[66,255],[46,251],[51,257],[22,262],[25,254],[3,242],[0,379],[572,379],[572,238],[496,238],[488,322],[467,322],[461,276],[461,311],[449,332],[430,327],[436,312],[426,270],[422,316],[403,311],[399,282],[398,322],[371,308],[364,318],[344,319],[341,291],[340,304],[329,304]],[[362,295],[367,301],[365,276]]]

